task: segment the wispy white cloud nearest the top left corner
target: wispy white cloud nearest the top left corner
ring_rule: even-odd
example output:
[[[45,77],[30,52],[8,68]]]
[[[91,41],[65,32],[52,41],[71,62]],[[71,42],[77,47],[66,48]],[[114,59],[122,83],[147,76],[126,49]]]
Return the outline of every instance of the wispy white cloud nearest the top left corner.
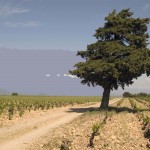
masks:
[[[13,14],[22,14],[30,12],[28,9],[19,8],[19,7],[11,7],[9,5],[0,6],[0,16],[7,16]]]

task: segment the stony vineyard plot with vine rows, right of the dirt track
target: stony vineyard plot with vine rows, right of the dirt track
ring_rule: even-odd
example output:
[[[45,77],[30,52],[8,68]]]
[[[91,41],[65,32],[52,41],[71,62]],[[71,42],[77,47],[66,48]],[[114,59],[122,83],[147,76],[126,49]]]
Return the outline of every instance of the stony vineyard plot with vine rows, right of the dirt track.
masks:
[[[99,112],[93,109],[73,123],[49,133],[53,138],[47,139],[42,147],[36,143],[34,148],[148,150],[150,149],[149,104],[148,97],[144,100],[139,97],[122,98],[112,104],[108,111]]]

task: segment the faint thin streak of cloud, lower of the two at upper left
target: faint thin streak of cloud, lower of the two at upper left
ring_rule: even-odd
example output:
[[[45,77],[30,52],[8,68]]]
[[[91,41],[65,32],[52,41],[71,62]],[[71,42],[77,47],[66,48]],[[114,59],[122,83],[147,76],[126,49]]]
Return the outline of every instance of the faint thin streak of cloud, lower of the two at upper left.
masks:
[[[12,22],[6,22],[4,23],[5,26],[16,28],[16,27],[38,27],[41,26],[41,23],[34,22],[34,21],[29,21],[29,22],[17,22],[17,23],[12,23]]]

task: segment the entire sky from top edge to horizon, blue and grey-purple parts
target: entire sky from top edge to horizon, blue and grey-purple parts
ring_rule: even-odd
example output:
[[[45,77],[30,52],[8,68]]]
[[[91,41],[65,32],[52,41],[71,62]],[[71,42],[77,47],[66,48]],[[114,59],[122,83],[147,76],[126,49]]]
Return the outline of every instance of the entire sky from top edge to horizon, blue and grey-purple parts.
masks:
[[[150,0],[0,0],[0,91],[102,94],[102,88],[83,86],[64,74],[80,60],[76,51],[95,42],[92,35],[103,26],[105,16],[124,8],[130,8],[134,17],[150,17]],[[142,76],[125,89],[149,92],[149,87],[150,78]]]

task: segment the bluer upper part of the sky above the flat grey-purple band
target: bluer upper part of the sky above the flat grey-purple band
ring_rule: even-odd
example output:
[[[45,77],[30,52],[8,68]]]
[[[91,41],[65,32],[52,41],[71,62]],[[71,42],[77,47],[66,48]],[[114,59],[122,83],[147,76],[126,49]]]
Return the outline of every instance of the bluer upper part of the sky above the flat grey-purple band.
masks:
[[[0,0],[0,47],[84,50],[104,17],[124,8],[150,17],[150,0]]]

